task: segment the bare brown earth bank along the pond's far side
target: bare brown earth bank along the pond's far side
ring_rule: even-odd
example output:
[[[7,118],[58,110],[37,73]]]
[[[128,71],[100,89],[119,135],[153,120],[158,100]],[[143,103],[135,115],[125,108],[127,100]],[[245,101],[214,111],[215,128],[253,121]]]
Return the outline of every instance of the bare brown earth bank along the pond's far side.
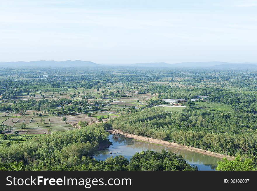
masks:
[[[107,131],[110,132],[113,135],[123,135],[127,138],[132,138],[132,139],[136,139],[136,140],[144,141],[144,142],[148,142],[148,143],[153,143],[153,144],[159,144],[159,145],[163,145],[163,146],[167,146],[167,147],[173,147],[173,148],[177,148],[178,150],[193,151],[193,152],[197,152],[197,153],[201,153],[201,154],[204,154],[204,155],[209,155],[209,156],[213,156],[213,157],[217,157],[217,158],[226,157],[228,160],[234,160],[234,158],[235,158],[235,157],[230,156],[230,155],[223,155],[223,154],[214,153],[214,152],[211,152],[211,151],[205,151],[205,150],[200,149],[200,148],[194,148],[194,147],[179,145],[179,144],[176,144],[176,143],[170,143],[168,141],[162,141],[162,140],[158,140],[158,139],[152,139],[152,138],[142,137],[142,136],[138,136],[138,135],[133,135],[133,134],[130,134],[130,133],[124,133],[121,130],[107,130]]]

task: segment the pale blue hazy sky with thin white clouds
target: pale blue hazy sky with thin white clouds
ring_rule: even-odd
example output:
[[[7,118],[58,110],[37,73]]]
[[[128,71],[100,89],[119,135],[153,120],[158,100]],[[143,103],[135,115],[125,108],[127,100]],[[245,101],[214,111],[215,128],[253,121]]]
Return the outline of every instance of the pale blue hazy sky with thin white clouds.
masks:
[[[0,3],[0,61],[257,62],[257,0]]]

